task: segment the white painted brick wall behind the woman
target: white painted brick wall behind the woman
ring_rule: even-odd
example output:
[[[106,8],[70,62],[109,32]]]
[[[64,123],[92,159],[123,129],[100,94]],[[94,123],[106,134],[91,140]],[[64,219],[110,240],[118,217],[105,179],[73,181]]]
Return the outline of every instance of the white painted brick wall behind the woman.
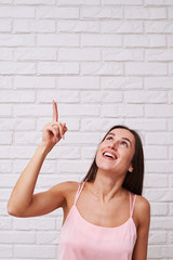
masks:
[[[114,125],[143,139],[151,204],[148,259],[173,260],[173,1],[0,0],[0,259],[55,260],[62,210],[8,216],[6,203],[52,119],[65,141],[37,192],[80,181]],[[58,159],[57,159],[58,158]]]

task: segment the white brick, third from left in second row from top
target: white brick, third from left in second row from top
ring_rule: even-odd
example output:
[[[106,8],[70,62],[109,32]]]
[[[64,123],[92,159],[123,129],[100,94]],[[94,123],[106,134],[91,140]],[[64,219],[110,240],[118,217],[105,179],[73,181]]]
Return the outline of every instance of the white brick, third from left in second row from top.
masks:
[[[83,18],[122,18],[122,8],[82,8]]]

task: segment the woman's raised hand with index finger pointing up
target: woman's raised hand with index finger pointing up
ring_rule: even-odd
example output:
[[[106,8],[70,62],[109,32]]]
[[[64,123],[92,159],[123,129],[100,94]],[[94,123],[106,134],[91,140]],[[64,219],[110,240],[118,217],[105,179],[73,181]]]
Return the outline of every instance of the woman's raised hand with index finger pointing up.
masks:
[[[45,147],[46,153],[49,153],[62,138],[64,139],[66,131],[66,123],[58,122],[57,105],[56,102],[53,101],[53,121],[48,122],[43,127],[42,132],[41,145]]]

